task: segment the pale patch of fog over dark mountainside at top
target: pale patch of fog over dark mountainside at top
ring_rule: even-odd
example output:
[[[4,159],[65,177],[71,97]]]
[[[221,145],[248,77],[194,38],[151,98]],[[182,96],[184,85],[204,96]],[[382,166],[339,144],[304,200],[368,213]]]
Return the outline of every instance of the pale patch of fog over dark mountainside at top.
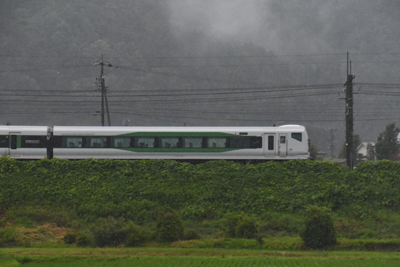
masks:
[[[267,1],[172,0],[170,23],[177,32],[198,30],[205,37],[257,43],[278,48]]]

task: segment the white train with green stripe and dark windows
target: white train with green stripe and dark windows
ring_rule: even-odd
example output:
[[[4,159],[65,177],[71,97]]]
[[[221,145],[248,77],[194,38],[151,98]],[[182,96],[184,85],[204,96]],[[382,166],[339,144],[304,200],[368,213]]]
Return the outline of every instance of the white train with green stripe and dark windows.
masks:
[[[309,159],[304,126],[0,126],[0,155],[16,159]]]

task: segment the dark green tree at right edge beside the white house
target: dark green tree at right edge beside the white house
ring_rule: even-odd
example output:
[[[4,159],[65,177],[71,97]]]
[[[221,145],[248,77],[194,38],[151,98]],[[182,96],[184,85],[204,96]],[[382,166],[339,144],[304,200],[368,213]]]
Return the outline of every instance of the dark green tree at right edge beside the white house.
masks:
[[[376,158],[393,159],[399,152],[399,142],[397,135],[400,129],[395,126],[395,122],[386,125],[383,132],[379,133],[375,143]]]

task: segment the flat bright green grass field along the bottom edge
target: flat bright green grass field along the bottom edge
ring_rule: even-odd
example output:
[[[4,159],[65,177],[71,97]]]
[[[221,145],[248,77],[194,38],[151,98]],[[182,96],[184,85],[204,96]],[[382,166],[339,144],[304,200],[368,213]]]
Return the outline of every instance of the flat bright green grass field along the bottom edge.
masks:
[[[189,248],[4,248],[0,266],[399,266],[400,252]]]

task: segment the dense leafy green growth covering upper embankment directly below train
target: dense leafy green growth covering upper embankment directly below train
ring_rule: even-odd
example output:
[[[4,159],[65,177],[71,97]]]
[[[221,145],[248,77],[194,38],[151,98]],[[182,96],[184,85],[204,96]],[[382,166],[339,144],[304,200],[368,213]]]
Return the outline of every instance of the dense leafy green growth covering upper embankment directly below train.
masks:
[[[217,212],[292,212],[309,205],[363,216],[400,208],[400,162],[362,162],[354,170],[326,161],[216,160],[17,161],[0,157],[0,206],[62,206],[85,216],[143,218],[160,207],[186,218]]]

